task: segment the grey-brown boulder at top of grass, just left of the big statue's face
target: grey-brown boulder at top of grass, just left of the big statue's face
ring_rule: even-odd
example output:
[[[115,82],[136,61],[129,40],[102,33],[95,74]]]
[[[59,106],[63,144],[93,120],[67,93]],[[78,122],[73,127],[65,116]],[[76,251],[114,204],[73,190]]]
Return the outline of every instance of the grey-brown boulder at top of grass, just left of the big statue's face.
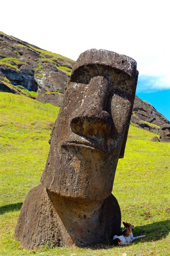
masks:
[[[42,88],[37,96],[37,100],[43,103],[51,103],[56,107],[60,107],[63,100],[63,94],[55,91],[46,91],[46,89]]]

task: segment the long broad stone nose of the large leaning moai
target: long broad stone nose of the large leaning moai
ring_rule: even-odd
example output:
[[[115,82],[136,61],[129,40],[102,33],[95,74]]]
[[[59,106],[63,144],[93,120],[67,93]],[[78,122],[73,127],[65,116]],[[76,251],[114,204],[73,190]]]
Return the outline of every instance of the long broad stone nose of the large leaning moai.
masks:
[[[110,132],[111,119],[105,111],[110,81],[107,76],[91,78],[80,107],[70,121],[71,130],[80,135],[105,137]]]

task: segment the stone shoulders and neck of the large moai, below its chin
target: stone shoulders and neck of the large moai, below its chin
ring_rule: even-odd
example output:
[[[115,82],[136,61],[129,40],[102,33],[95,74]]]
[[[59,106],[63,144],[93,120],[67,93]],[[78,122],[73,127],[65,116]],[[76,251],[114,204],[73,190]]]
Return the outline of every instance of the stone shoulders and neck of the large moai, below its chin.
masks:
[[[33,188],[24,201],[15,229],[23,248],[75,244],[88,246],[113,238],[121,227],[121,211],[111,194],[104,201],[71,201],[45,189]]]

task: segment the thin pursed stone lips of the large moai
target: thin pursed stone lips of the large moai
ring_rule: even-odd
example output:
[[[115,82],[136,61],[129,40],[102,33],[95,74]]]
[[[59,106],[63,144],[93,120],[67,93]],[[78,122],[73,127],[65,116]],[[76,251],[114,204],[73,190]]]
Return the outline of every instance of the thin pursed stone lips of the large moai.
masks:
[[[92,150],[97,150],[102,153],[107,153],[108,152],[108,147],[106,145],[101,145],[98,142],[96,142],[95,139],[90,139],[90,138],[84,138],[80,137],[81,139],[74,139],[70,141],[66,141],[63,143],[63,146],[74,146],[74,147],[83,147],[87,149],[92,149]]]

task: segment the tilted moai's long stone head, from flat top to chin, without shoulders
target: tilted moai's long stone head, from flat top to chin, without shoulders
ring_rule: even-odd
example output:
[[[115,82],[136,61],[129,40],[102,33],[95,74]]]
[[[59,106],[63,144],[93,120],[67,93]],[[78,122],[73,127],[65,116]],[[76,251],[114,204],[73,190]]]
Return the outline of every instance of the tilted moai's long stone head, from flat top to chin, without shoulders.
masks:
[[[67,82],[41,182],[77,201],[107,198],[124,155],[136,61],[107,50],[80,54]]]

